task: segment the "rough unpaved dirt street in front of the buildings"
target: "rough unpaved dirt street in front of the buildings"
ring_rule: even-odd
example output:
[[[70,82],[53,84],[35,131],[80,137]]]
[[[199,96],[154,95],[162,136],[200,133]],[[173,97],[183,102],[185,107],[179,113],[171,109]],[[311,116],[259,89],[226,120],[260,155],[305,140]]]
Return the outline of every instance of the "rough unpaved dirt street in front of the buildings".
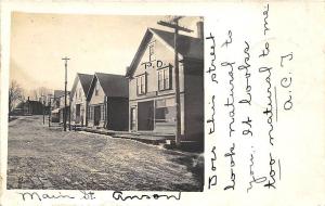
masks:
[[[133,140],[9,123],[8,189],[199,191],[203,157]]]

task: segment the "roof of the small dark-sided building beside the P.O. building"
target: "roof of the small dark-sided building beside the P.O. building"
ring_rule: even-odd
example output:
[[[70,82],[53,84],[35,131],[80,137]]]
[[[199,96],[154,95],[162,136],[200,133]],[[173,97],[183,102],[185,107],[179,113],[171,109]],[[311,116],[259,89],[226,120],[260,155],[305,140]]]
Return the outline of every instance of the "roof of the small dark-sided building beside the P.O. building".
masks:
[[[129,81],[125,76],[95,73],[87,94],[88,100],[90,100],[98,80],[106,96],[129,98]]]

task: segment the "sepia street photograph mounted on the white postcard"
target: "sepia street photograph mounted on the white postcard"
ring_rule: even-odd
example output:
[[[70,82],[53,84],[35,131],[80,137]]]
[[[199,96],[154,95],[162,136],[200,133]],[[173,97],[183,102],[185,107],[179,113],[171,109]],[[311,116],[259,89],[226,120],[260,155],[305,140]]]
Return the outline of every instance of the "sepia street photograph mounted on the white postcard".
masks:
[[[204,189],[204,18],[13,12],[6,189]]]

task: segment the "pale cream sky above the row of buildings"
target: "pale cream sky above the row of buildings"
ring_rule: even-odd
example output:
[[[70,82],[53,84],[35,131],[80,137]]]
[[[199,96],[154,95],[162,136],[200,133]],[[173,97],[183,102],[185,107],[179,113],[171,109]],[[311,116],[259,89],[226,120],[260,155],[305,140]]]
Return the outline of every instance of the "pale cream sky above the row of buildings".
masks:
[[[64,89],[64,61],[68,61],[68,90],[76,73],[125,75],[147,27],[168,16],[40,14],[14,12],[11,21],[10,79],[24,90]],[[194,30],[199,17],[180,25]]]

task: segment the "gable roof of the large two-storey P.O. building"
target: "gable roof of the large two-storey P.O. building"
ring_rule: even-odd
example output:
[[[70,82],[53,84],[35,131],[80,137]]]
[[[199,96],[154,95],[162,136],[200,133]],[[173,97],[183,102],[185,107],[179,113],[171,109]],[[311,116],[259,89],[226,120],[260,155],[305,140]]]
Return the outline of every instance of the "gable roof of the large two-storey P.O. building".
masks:
[[[170,49],[174,49],[174,33],[160,30],[156,28],[147,28],[144,37],[139,46],[139,49],[131,62],[131,65],[127,68],[126,76],[129,77],[135,70],[141,56],[145,52],[146,46],[151,37],[157,37],[158,40],[165,42]],[[178,36],[178,50],[184,59],[204,60],[204,40],[185,35]]]

